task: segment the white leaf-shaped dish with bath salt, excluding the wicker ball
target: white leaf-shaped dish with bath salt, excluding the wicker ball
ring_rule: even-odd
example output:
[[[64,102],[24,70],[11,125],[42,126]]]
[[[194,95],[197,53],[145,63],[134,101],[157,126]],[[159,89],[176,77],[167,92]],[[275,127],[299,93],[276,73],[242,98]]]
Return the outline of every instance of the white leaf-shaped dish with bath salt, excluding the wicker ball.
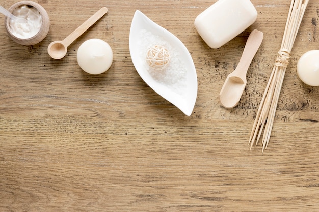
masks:
[[[163,45],[170,52],[171,60],[164,70],[153,70],[146,62],[147,50],[154,45]],[[137,10],[129,33],[129,51],[137,72],[146,84],[190,116],[197,98],[197,74],[185,45]]]

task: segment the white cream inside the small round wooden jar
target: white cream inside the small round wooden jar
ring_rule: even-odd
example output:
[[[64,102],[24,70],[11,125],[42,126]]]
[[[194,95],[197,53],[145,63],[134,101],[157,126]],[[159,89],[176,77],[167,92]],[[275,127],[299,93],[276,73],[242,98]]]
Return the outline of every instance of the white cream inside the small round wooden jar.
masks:
[[[26,23],[18,23],[14,20],[10,20],[10,32],[15,37],[21,39],[31,38],[40,31],[42,16],[36,8],[22,5],[16,8],[12,14],[28,20]]]

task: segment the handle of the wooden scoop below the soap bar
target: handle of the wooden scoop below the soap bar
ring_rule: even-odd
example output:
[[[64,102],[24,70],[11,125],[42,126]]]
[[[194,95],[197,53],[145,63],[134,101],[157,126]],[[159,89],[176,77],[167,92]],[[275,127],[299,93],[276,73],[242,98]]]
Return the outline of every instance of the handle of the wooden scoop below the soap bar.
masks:
[[[240,62],[235,69],[235,71],[238,71],[236,75],[242,79],[246,79],[247,70],[261,45],[262,39],[263,33],[257,29],[254,29],[249,35]]]

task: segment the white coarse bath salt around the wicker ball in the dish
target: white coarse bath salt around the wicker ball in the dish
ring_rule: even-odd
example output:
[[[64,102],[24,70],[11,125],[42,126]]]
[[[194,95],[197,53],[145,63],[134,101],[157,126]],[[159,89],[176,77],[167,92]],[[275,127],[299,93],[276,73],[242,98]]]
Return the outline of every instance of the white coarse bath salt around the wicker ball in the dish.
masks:
[[[148,50],[156,45],[164,46],[171,56],[169,64],[162,70],[151,68],[146,60]],[[146,29],[143,29],[140,32],[138,46],[139,49],[141,49],[139,55],[141,62],[151,77],[158,83],[161,83],[177,94],[182,95],[186,86],[187,68],[185,67],[178,50],[161,36],[154,35]]]

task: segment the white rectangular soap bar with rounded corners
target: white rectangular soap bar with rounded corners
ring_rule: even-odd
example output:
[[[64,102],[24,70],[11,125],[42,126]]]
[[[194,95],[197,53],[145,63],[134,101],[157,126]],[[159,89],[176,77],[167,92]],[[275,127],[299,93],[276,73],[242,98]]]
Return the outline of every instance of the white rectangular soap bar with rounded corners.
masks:
[[[195,19],[195,27],[210,48],[219,48],[257,19],[250,0],[219,0]]]

